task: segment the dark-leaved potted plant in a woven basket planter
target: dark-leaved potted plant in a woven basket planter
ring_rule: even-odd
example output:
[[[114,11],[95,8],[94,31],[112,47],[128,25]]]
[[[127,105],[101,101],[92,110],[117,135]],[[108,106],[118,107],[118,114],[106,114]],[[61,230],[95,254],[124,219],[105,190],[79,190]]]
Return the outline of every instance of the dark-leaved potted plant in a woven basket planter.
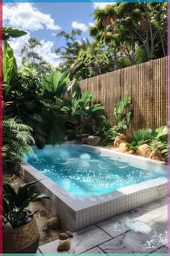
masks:
[[[49,197],[35,193],[35,184],[30,182],[17,192],[4,183],[3,186],[3,251],[4,253],[35,253],[39,244],[39,231],[34,214],[27,207],[30,202]]]

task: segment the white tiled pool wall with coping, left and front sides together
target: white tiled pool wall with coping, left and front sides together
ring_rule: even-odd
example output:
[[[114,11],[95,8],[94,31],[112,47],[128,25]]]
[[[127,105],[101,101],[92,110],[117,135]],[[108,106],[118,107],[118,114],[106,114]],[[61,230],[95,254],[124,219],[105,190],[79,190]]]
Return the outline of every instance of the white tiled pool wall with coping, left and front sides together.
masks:
[[[153,184],[152,180],[122,188],[118,193],[112,192],[108,197],[104,196],[102,200],[97,197],[94,202],[90,199],[80,201],[69,195],[62,195],[53,181],[47,177],[42,179],[42,176],[44,175],[40,171],[29,165],[24,171],[26,182],[40,180],[37,190],[50,197],[50,200],[43,202],[54,216],[59,216],[63,231],[77,231],[167,196],[167,183],[157,181]]]

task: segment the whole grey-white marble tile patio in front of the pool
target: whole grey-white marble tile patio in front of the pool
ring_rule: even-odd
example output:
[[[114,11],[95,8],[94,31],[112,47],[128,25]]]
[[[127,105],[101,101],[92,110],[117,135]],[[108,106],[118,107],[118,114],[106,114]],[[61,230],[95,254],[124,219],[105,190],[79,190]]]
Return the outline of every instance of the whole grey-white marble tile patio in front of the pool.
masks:
[[[70,239],[71,249],[67,253],[166,253],[166,204],[166,199],[158,200],[74,232]],[[40,252],[58,253],[59,242],[57,239],[42,245]]]

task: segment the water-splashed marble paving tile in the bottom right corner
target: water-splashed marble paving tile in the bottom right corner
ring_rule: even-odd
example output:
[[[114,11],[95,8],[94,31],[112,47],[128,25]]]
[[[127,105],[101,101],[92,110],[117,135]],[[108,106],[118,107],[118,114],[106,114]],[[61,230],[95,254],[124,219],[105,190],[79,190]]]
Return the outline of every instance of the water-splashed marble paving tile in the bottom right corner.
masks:
[[[167,232],[153,221],[145,223],[143,231],[128,231],[99,247],[107,253],[150,253],[166,245]]]

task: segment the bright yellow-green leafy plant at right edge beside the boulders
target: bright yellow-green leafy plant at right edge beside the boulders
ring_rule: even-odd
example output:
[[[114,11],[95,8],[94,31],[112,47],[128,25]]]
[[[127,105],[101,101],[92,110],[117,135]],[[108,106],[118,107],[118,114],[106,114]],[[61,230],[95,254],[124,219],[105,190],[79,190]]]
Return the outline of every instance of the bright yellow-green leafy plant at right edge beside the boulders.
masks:
[[[167,126],[158,127],[156,136],[151,141],[152,150],[161,150],[161,154],[166,157],[168,155],[168,128]]]

